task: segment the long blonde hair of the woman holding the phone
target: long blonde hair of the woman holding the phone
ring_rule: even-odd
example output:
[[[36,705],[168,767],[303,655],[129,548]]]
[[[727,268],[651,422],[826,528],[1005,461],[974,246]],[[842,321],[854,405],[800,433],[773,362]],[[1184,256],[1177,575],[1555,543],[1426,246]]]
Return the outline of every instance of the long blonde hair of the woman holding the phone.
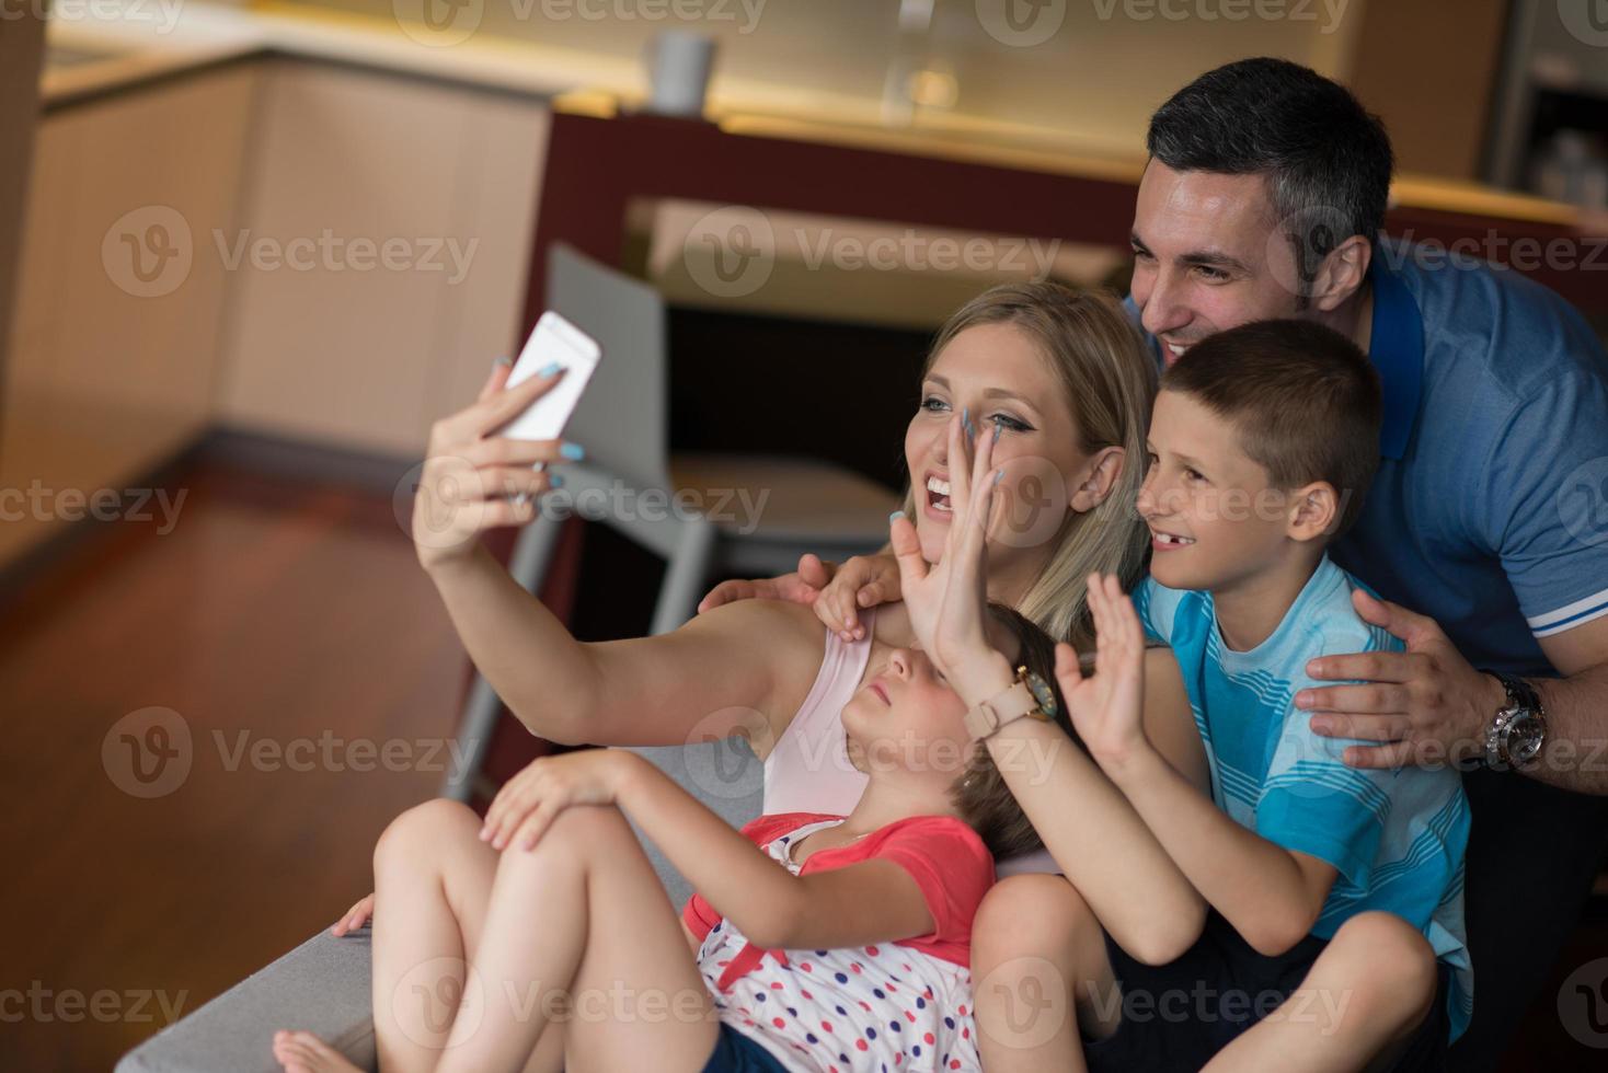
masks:
[[[1106,447],[1126,451],[1122,472],[1100,506],[1066,512],[1050,536],[1055,554],[1018,606],[1052,638],[1084,647],[1093,639],[1084,580],[1097,570],[1116,573],[1122,588],[1132,590],[1143,575],[1150,541],[1134,503],[1145,480],[1155,358],[1114,297],[1056,283],[1008,283],[984,291],[949,318],[921,376],[955,336],[976,324],[1013,324],[1037,344],[1061,384],[1084,455]],[[917,517],[915,488],[905,492],[904,509],[905,517]]]

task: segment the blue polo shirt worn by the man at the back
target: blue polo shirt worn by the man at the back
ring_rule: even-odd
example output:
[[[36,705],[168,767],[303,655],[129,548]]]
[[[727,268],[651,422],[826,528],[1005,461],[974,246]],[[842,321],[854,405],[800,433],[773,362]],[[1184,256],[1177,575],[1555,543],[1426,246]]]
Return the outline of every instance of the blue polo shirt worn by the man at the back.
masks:
[[[1552,675],[1537,638],[1608,615],[1608,355],[1513,270],[1384,241],[1368,279],[1380,469],[1328,553],[1475,667]]]

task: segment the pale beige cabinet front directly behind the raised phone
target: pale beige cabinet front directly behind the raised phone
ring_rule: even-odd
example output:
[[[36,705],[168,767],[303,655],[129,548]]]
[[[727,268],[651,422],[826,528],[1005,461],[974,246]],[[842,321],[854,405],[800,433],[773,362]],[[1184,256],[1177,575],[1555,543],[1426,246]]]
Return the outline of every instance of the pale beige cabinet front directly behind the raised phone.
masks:
[[[296,61],[264,79],[219,418],[420,455],[516,344],[547,106]]]

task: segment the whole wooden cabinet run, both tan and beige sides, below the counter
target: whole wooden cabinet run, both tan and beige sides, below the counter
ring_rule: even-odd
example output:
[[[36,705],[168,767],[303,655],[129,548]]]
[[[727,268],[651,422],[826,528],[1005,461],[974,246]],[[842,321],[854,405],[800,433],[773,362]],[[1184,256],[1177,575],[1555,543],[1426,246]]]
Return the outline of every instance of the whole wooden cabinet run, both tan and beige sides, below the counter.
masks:
[[[0,564],[72,520],[63,492],[122,490],[207,427],[421,455],[518,342],[548,116],[294,59],[47,114]]]

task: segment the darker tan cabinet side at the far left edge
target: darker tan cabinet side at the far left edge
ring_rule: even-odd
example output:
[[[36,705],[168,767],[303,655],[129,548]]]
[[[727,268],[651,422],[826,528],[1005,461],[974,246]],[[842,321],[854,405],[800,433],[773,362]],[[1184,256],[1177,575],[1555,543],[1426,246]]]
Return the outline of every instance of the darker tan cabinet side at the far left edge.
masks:
[[[233,228],[254,87],[252,69],[227,67],[40,120],[0,416],[0,561],[71,520],[74,493],[121,488],[206,427],[225,273],[201,241]]]

